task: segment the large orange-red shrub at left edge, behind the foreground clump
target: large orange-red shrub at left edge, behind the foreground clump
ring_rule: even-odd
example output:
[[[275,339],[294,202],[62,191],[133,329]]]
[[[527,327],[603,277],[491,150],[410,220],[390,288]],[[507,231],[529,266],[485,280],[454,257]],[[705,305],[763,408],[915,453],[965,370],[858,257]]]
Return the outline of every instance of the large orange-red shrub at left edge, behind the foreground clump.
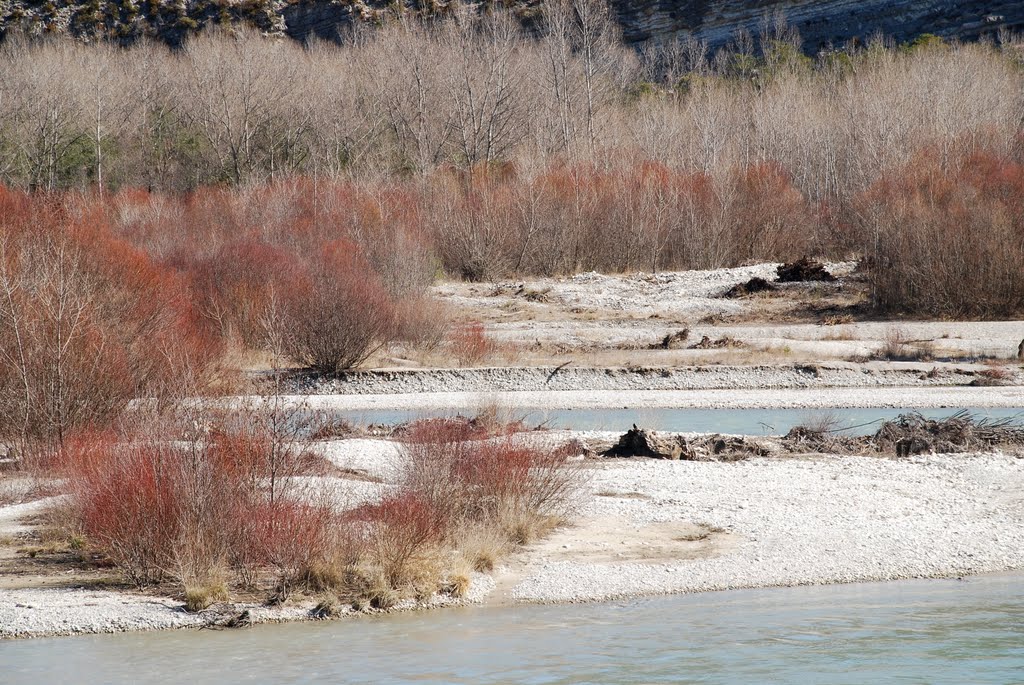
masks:
[[[184,280],[101,207],[0,194],[0,438],[106,425],[132,398],[201,387],[217,353]]]

